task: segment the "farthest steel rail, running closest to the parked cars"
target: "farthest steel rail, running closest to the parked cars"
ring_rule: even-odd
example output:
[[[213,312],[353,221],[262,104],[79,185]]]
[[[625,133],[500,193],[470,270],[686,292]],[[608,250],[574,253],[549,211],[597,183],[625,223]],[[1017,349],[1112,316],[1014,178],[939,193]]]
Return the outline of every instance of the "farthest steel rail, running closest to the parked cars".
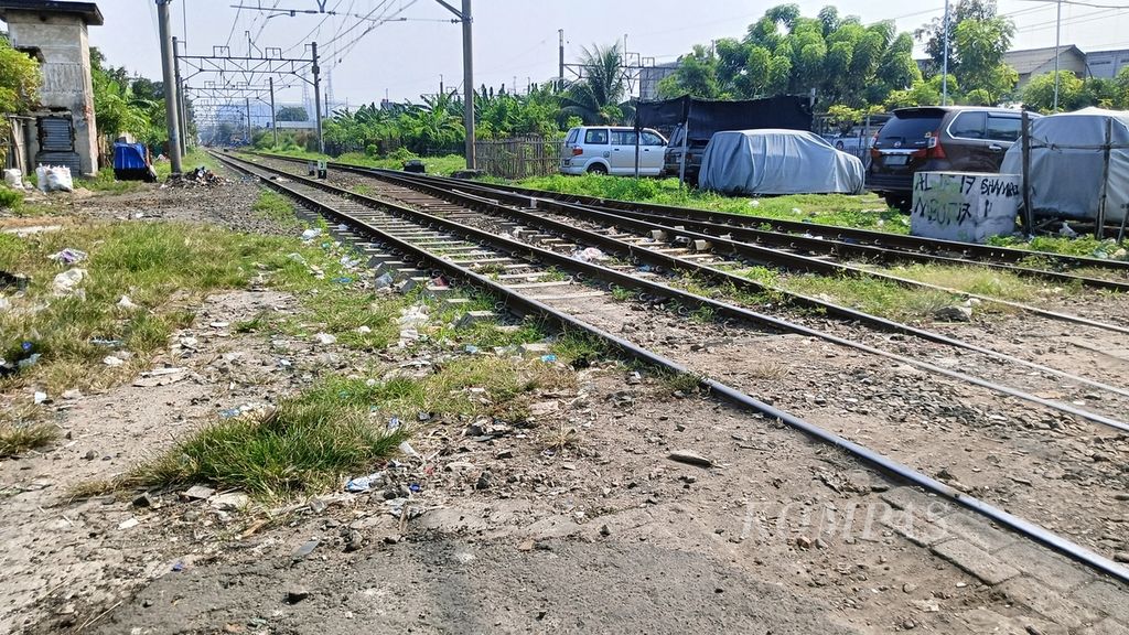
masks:
[[[282,155],[273,155],[269,153],[253,153],[253,154],[268,158],[274,158],[294,163],[305,162],[305,159],[287,157]],[[357,174],[366,174],[373,172],[393,172],[393,171],[383,171],[379,168],[371,168],[361,165],[352,165],[339,162],[330,162],[327,165],[334,169],[342,169],[347,172],[353,172]],[[446,182],[446,183],[466,182],[463,180],[449,179],[436,175],[427,175],[427,177],[437,182]],[[945,241],[940,238],[926,238],[921,236],[909,236],[904,234],[892,234],[887,232],[875,232],[873,229],[859,229],[855,227],[841,227],[837,225],[819,225],[814,223],[784,220],[778,218],[733,214],[727,211],[714,211],[707,209],[665,206],[658,203],[641,203],[636,201],[605,199],[605,198],[588,197],[583,194],[568,194],[562,192],[534,190],[530,188],[520,188],[517,185],[505,185],[498,183],[491,183],[489,184],[489,188],[498,191],[518,193],[528,197],[553,199],[566,202],[576,202],[589,207],[597,207],[597,208],[602,207],[620,211],[644,212],[651,217],[698,219],[710,223],[716,223],[717,219],[724,219],[725,221],[732,221],[734,226],[738,227],[751,227],[751,226],[761,227],[764,225],[769,225],[773,228],[773,230],[784,234],[811,234],[814,236],[822,236],[824,238],[834,241],[842,241],[842,242],[855,241],[861,244],[885,246],[887,249],[904,250],[909,252],[919,252],[926,250],[930,252],[960,253],[982,259],[982,260],[970,260],[969,264],[975,264],[982,261],[1021,262],[1029,258],[1038,256],[1040,259],[1044,259],[1061,267],[1093,267],[1096,269],[1109,269],[1114,271],[1129,272],[1129,261],[1103,260],[1099,258],[1066,255],[1066,254],[1044,252],[1044,251],[1021,250],[1015,247],[1003,247],[995,245],[980,245],[975,243],[961,243],[955,241]]]

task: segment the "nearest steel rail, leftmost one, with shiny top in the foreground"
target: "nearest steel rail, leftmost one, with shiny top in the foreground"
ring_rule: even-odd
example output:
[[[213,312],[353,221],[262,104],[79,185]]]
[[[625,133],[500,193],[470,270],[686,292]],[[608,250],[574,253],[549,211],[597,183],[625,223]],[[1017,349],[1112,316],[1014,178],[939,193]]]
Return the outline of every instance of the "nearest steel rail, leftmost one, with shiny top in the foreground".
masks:
[[[361,220],[358,220],[349,215],[340,212],[330,206],[318,202],[315,199],[305,197],[301,193],[288,188],[283,183],[277,181],[264,179],[261,175],[254,174],[251,169],[237,165],[229,157],[222,157],[216,155],[221,162],[227,165],[231,165],[236,169],[244,172],[246,174],[252,174],[259,177],[265,185],[272,188],[279,192],[294,197],[304,201],[304,203],[317,209],[318,211],[334,218],[339,221],[347,221],[353,229],[359,233],[367,235],[379,242],[390,246],[391,249],[411,254],[417,258],[420,262],[428,263],[429,266],[443,271],[445,276],[450,279],[461,279],[470,282],[471,286],[487,290],[489,294],[498,297],[502,306],[513,311],[518,315],[537,315],[545,319],[548,322],[557,325],[558,330],[569,331],[577,330],[586,332],[602,341],[607,342],[612,348],[620,350],[628,357],[638,359],[640,362],[665,368],[675,373],[688,374],[690,371],[684,366],[677,364],[676,362],[658,355],[656,353],[646,350],[636,346],[634,343],[622,339],[615,334],[601,330],[587,322],[578,320],[567,313],[558,311],[546,304],[537,302],[533,298],[522,296],[515,293],[513,289],[500,285],[490,278],[475,273],[470,269],[461,267],[454,262],[444,260],[427,250],[413,245],[406,241],[397,238],[388,233],[385,233],[376,227],[368,225]],[[581,263],[585,264],[585,263]],[[797,429],[812,438],[828,443],[830,445],[840,447],[846,452],[852,454],[865,463],[868,463],[873,468],[882,471],[886,475],[894,476],[904,481],[917,485],[928,492],[931,492],[938,496],[947,498],[974,513],[978,513],[984,517],[988,517],[1001,527],[1008,530],[1026,537],[1030,540],[1044,545],[1045,547],[1056,550],[1069,558],[1078,562],[1096,572],[1109,575],[1122,583],[1129,584],[1129,569],[1122,567],[1121,565],[1114,563],[1110,558],[1106,558],[1100,554],[1091,551],[1085,547],[1077,545],[1061,536],[1048,531],[1047,529],[1039,527],[1030,521],[1025,521],[1014,514],[1010,514],[1004,510],[995,507],[979,498],[968,496],[952,487],[918,471],[909,466],[900,463],[882,453],[875,452],[866,446],[859,445],[842,436],[839,436],[825,428],[822,428],[815,424],[808,423],[795,415],[779,410],[763,401],[760,401],[735,388],[727,384],[718,382],[716,380],[710,380],[708,377],[699,377],[700,383],[703,388],[709,389],[714,393],[717,393],[725,398],[730,403],[737,406],[741,409],[751,410],[759,412],[761,415],[777,419],[789,427]]]

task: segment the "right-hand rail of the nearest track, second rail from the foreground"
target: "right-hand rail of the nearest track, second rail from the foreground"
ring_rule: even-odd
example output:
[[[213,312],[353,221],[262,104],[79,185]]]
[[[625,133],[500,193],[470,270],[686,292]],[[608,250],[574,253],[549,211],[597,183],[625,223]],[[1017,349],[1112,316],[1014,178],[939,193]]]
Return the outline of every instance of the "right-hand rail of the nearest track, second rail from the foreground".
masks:
[[[251,165],[255,165],[255,164],[251,164]],[[266,172],[272,172],[274,174],[286,175],[286,176],[295,180],[296,182],[300,182],[300,183],[304,183],[307,186],[316,188],[316,189],[320,189],[322,191],[333,193],[334,195],[345,197],[345,198],[349,198],[349,199],[353,199],[353,200],[360,201],[362,203],[367,202],[368,205],[373,205],[375,207],[379,207],[379,208],[383,208],[383,209],[395,210],[396,212],[399,212],[401,215],[408,216],[410,218],[414,218],[415,221],[418,221],[418,223],[427,224],[427,225],[430,225],[430,226],[440,226],[440,227],[444,227],[446,230],[449,230],[449,232],[453,232],[453,233],[456,233],[456,234],[461,234],[461,235],[464,235],[464,236],[473,236],[474,241],[489,244],[492,247],[498,249],[500,251],[506,251],[506,252],[511,253],[511,254],[518,254],[518,253],[520,253],[520,254],[530,254],[528,256],[526,256],[527,259],[535,259],[535,260],[540,260],[542,262],[549,261],[549,262],[552,262],[554,266],[559,266],[559,267],[562,267],[564,269],[580,270],[580,271],[584,271],[584,272],[593,273],[597,278],[602,278],[603,280],[610,281],[610,282],[613,282],[613,284],[622,284],[624,287],[642,288],[642,289],[645,289],[645,290],[654,294],[656,297],[679,298],[680,301],[688,301],[690,304],[697,305],[699,307],[709,307],[710,310],[715,311],[717,314],[727,315],[729,318],[734,318],[734,319],[737,319],[737,320],[743,320],[743,321],[751,322],[751,323],[763,324],[763,325],[767,325],[767,327],[770,327],[770,328],[777,329],[777,330],[790,331],[790,332],[795,332],[795,333],[799,333],[799,334],[804,334],[804,336],[808,336],[808,337],[814,337],[814,338],[823,339],[824,341],[828,341],[828,342],[831,342],[831,343],[835,343],[835,345],[843,346],[843,347],[847,347],[847,348],[854,348],[856,350],[860,350],[863,353],[867,353],[867,354],[879,356],[879,357],[885,357],[887,359],[893,359],[893,360],[899,362],[901,364],[908,364],[908,365],[911,365],[911,366],[917,366],[917,367],[922,368],[925,371],[928,371],[930,373],[943,375],[943,376],[947,376],[949,379],[954,379],[954,380],[962,381],[962,382],[965,382],[965,383],[970,383],[970,384],[973,384],[973,385],[978,385],[980,388],[984,388],[984,389],[987,389],[989,391],[992,391],[992,392],[998,392],[998,393],[1001,393],[1001,394],[1007,394],[1009,397],[1015,397],[1017,399],[1021,399],[1021,400],[1024,400],[1024,401],[1029,401],[1031,403],[1036,403],[1036,405],[1042,406],[1042,407],[1048,408],[1048,409],[1058,410],[1060,412],[1073,415],[1073,416],[1076,416],[1076,417],[1079,417],[1079,418],[1083,418],[1083,419],[1086,419],[1086,420],[1089,420],[1089,421],[1093,421],[1093,423],[1096,423],[1096,424],[1101,424],[1101,425],[1108,426],[1108,427],[1113,428],[1113,429],[1118,429],[1118,430],[1121,430],[1121,432],[1129,432],[1129,424],[1127,424],[1124,421],[1120,421],[1118,419],[1113,419],[1111,417],[1106,417],[1106,416],[1097,414],[1097,412],[1091,412],[1088,410],[1076,408],[1076,407],[1074,407],[1071,405],[1061,403],[1061,402],[1058,402],[1058,401],[1044,399],[1044,398],[1031,394],[1029,392],[1015,389],[1013,386],[1008,386],[1008,385],[1004,385],[1004,384],[998,384],[996,382],[991,382],[991,381],[988,381],[988,380],[984,380],[984,379],[981,379],[981,377],[977,377],[977,376],[973,376],[973,375],[968,375],[968,374],[960,373],[960,372],[956,372],[956,371],[951,371],[948,368],[944,368],[944,367],[937,366],[935,364],[930,364],[928,362],[924,362],[924,360],[916,359],[916,358],[912,358],[912,357],[904,357],[904,356],[901,356],[901,355],[898,355],[898,354],[894,354],[894,353],[890,353],[890,351],[886,351],[886,350],[874,348],[872,346],[868,346],[868,345],[865,345],[865,343],[861,343],[861,342],[856,342],[854,340],[841,338],[839,336],[834,336],[834,334],[831,334],[831,333],[825,333],[825,332],[819,331],[816,329],[812,329],[812,328],[808,328],[808,327],[803,327],[800,324],[794,324],[794,323],[787,322],[785,320],[780,320],[780,319],[777,319],[777,318],[772,318],[772,316],[769,316],[769,315],[756,313],[756,312],[753,312],[753,311],[751,311],[749,308],[745,308],[745,307],[742,307],[742,306],[735,306],[735,305],[732,305],[732,304],[727,304],[727,303],[718,302],[718,301],[715,301],[715,299],[711,299],[711,298],[707,298],[707,297],[703,297],[703,296],[699,296],[699,295],[695,295],[695,294],[691,294],[689,292],[685,292],[685,290],[682,290],[682,289],[676,289],[676,288],[669,287],[667,285],[662,285],[659,282],[654,282],[654,281],[649,281],[649,280],[641,280],[641,279],[639,279],[639,278],[637,278],[634,276],[630,276],[630,275],[623,273],[621,271],[616,271],[614,269],[610,269],[610,268],[602,267],[602,266],[598,266],[598,264],[583,262],[583,261],[579,261],[579,260],[577,260],[575,258],[562,255],[562,254],[559,254],[559,253],[555,253],[555,252],[552,252],[552,251],[549,251],[549,250],[543,250],[541,247],[532,246],[532,245],[528,245],[528,244],[525,244],[525,243],[522,243],[522,242],[518,242],[518,241],[513,241],[510,238],[498,236],[497,234],[493,234],[493,233],[490,233],[490,232],[484,232],[482,229],[478,229],[475,227],[470,227],[467,225],[464,225],[464,224],[461,224],[461,223],[455,223],[453,220],[448,220],[448,219],[445,219],[445,218],[441,218],[441,217],[438,217],[438,216],[434,216],[434,215],[430,215],[430,214],[427,214],[427,212],[418,211],[418,210],[411,209],[409,207],[404,207],[404,206],[402,206],[400,203],[395,203],[395,202],[383,200],[383,199],[376,199],[376,198],[373,198],[373,197],[367,197],[367,195],[362,195],[362,194],[357,194],[357,193],[353,193],[353,192],[349,192],[347,190],[342,190],[341,188],[336,188],[334,185],[331,185],[329,183],[324,183],[322,181],[315,181],[315,180],[305,179],[305,177],[297,176],[297,175],[294,175],[291,173],[287,173],[287,172],[278,169],[278,168],[269,167],[269,166],[255,165],[255,167],[257,167],[260,169],[263,169],[263,171],[266,171]],[[462,202],[460,205],[467,205],[467,207],[473,207],[473,203],[474,203],[474,201],[471,201],[470,205],[467,205],[465,202]],[[502,209],[508,209],[508,208],[502,208]],[[598,236],[598,235],[594,234],[594,236]],[[604,241],[607,241],[607,240],[609,238],[604,237]],[[647,250],[641,250],[641,251],[647,251]],[[669,258],[669,256],[667,256],[667,258]],[[992,353],[995,353],[995,351],[992,351]],[[1003,354],[996,354],[996,355],[997,356],[1003,356]],[[1006,360],[1009,360],[1009,362],[1025,362],[1025,360],[1018,360],[1018,359],[1006,359]],[[1032,363],[1026,363],[1026,365],[1027,366],[1032,366]],[[1119,393],[1123,394],[1123,391],[1121,391],[1121,389],[1117,389],[1114,386],[1108,386],[1105,384],[1102,384],[1102,383],[1099,383],[1099,382],[1093,382],[1092,380],[1085,380],[1083,377],[1074,377],[1073,375],[1068,375],[1066,373],[1062,373],[1060,371],[1056,371],[1053,368],[1040,367],[1038,365],[1034,365],[1034,366],[1036,368],[1043,371],[1043,372],[1047,372],[1047,373],[1050,373],[1050,374],[1054,374],[1057,376],[1070,377],[1070,379],[1074,379],[1075,381],[1080,381],[1080,382],[1087,383],[1087,384],[1093,385],[1094,388],[1097,388],[1097,389],[1101,389],[1101,390],[1108,390],[1110,392],[1119,392]]]

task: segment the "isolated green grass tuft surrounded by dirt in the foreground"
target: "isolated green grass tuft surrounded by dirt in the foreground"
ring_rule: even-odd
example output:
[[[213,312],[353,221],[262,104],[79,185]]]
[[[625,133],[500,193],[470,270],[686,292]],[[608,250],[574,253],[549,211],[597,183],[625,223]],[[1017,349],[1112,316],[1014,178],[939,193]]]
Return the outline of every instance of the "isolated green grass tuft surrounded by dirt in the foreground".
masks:
[[[374,402],[342,394],[338,381],[278,403],[261,417],[236,417],[192,433],[139,466],[131,486],[209,484],[264,498],[330,489],[369,471],[408,438],[373,417]]]

